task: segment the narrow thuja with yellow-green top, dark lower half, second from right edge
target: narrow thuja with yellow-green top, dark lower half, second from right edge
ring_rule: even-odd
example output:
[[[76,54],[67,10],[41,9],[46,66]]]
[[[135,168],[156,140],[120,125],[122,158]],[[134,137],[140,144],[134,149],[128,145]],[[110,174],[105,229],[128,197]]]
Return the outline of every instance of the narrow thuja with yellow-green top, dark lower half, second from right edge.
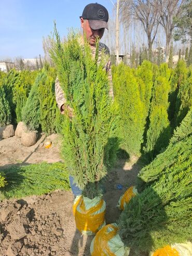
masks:
[[[185,61],[178,61],[171,77],[171,90],[169,95],[170,105],[168,112],[172,128],[175,127],[175,116],[177,115],[180,107],[180,102],[178,101],[177,95],[180,87],[183,87],[182,85],[187,83],[187,74],[188,70]]]

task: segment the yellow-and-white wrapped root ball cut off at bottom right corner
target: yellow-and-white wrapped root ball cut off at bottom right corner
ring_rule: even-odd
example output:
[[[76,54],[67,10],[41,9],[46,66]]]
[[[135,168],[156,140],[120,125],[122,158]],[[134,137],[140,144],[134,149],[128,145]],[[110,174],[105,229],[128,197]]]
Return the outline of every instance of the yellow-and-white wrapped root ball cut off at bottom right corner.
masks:
[[[150,252],[149,256],[192,256],[192,244],[186,242],[185,244],[168,245],[155,252]]]

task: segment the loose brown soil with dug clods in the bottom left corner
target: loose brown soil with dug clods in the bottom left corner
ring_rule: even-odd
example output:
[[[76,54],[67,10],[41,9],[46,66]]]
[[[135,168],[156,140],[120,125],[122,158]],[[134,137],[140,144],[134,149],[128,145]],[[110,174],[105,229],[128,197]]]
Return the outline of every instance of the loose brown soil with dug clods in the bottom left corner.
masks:
[[[0,203],[1,256],[89,255],[72,215],[73,195],[58,191]],[[76,234],[74,236],[74,234]],[[73,248],[70,240],[73,241]],[[79,241],[83,248],[79,248]],[[84,242],[85,244],[85,242]],[[90,242],[89,242],[90,244]]]

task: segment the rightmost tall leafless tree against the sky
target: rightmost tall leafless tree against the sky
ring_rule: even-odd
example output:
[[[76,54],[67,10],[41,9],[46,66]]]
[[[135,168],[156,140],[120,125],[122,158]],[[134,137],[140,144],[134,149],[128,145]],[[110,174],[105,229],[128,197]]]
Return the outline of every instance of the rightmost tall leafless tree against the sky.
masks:
[[[180,14],[183,2],[184,0],[155,0],[156,5],[159,7],[159,22],[166,33],[166,56],[169,55],[172,32],[175,28],[173,17]]]

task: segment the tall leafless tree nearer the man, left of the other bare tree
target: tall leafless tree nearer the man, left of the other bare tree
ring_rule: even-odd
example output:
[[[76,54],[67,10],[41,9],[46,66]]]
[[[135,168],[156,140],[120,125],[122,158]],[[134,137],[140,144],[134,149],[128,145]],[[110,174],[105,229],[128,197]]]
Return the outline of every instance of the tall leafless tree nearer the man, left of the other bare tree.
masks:
[[[132,15],[141,21],[148,39],[148,59],[152,60],[152,45],[159,25],[158,5],[154,0],[133,0]]]

